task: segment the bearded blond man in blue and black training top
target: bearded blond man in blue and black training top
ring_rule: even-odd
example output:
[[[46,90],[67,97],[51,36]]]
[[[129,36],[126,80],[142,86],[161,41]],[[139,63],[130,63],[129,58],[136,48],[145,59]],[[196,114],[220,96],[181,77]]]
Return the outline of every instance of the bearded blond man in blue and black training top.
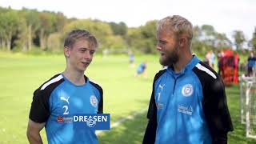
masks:
[[[145,144],[222,144],[233,130],[222,78],[192,54],[192,38],[186,18],[158,22],[157,50],[168,67],[154,77]]]

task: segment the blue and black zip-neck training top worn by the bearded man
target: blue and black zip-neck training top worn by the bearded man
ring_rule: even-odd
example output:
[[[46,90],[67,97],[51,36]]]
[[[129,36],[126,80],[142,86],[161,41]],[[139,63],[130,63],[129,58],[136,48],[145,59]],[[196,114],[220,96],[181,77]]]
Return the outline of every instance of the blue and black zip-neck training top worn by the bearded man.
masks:
[[[218,143],[233,130],[222,79],[196,56],[156,74],[147,117],[147,144]]]

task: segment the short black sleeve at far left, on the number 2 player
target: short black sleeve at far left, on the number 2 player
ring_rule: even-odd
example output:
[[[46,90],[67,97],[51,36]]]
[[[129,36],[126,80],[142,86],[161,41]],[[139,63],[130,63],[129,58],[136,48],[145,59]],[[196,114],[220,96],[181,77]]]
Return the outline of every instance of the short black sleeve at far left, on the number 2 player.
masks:
[[[50,116],[49,97],[46,96],[45,91],[35,90],[33,101],[30,108],[30,119],[34,122],[46,122]]]

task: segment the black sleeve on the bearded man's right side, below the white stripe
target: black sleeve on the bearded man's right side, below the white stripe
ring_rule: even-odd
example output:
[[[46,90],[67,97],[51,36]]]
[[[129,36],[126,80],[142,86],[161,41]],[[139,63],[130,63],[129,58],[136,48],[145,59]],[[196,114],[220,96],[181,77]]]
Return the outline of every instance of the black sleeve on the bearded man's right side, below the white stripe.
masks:
[[[221,78],[218,77],[213,82],[206,84],[202,107],[213,138],[213,144],[227,143],[227,133],[233,130],[233,125]]]

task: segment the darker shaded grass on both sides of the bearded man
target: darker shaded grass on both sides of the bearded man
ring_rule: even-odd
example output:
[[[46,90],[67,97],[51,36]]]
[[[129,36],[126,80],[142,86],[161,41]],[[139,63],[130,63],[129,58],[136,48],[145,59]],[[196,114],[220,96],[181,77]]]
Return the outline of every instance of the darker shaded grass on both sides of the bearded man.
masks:
[[[227,101],[234,131],[228,134],[229,144],[256,144],[256,139],[246,138],[246,126],[240,121],[239,87],[226,87]],[[147,108],[147,107],[146,107]],[[140,144],[147,125],[146,112],[98,136],[99,144]]]

